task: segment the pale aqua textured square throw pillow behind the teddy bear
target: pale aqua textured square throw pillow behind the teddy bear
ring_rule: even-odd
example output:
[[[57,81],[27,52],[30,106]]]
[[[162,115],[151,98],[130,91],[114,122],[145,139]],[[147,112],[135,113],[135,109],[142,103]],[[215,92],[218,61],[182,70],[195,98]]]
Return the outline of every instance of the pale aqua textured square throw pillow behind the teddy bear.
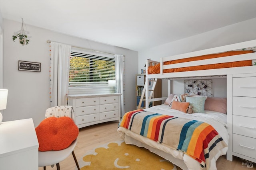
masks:
[[[207,97],[186,97],[186,102],[193,106],[195,113],[204,113],[204,103]]]

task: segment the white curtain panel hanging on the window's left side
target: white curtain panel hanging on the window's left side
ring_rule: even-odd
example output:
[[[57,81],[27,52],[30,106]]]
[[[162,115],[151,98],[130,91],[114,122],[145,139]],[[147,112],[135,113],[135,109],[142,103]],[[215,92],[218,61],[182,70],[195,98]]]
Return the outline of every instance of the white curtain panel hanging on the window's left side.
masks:
[[[71,45],[51,42],[50,52],[51,107],[67,105]]]

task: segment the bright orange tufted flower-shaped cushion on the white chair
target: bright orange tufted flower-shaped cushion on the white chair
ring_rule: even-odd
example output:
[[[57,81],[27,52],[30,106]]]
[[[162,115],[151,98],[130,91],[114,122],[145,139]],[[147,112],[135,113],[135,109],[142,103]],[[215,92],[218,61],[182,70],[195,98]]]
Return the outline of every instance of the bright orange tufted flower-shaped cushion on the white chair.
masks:
[[[66,149],[77,138],[79,129],[70,117],[48,117],[36,127],[39,151]]]

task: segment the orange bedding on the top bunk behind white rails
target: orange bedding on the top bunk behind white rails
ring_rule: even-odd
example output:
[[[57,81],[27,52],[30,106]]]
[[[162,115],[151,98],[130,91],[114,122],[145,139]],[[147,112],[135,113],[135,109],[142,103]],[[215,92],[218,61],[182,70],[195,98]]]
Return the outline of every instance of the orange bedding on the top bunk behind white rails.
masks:
[[[212,59],[218,57],[226,57],[230,55],[239,55],[239,54],[246,54],[246,53],[253,53],[254,51],[228,51],[224,53],[218,54],[209,54],[209,55],[202,55],[198,57],[190,57],[186,59],[178,59],[173,61],[166,61],[164,65],[168,64],[176,64],[176,63],[184,63],[188,61],[197,61],[203,59]],[[229,63],[219,63],[219,64],[208,64],[202,66],[190,66],[190,67],[181,67],[181,68],[170,68],[165,69],[163,72],[182,72],[182,71],[194,71],[194,70],[208,70],[208,69],[215,69],[215,68],[228,68],[228,67],[240,67],[240,66],[251,66],[252,60],[246,61],[236,61],[236,62],[229,62]],[[160,64],[156,64],[155,66],[148,67],[148,74],[159,74],[160,73]]]

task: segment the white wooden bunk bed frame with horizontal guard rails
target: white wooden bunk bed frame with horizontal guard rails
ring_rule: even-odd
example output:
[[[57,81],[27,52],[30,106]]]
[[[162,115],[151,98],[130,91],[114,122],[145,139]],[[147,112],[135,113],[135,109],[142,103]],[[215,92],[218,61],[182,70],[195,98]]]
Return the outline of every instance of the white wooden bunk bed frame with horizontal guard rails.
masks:
[[[225,45],[221,47],[215,47],[211,49],[205,49],[201,51],[195,51],[191,53],[185,53],[180,55],[174,55],[170,57],[162,57],[160,58],[160,62],[146,60],[146,82],[145,84],[148,85],[149,78],[163,78],[168,79],[168,96],[171,94],[171,80],[178,80],[178,79],[198,79],[198,78],[218,78],[218,77],[226,77],[227,79],[227,124],[228,124],[228,133],[230,134],[229,142],[228,142],[228,151],[226,154],[226,159],[232,161],[232,77],[235,76],[234,74],[248,74],[248,75],[255,75],[256,73],[256,66],[242,66],[242,67],[232,67],[232,68],[218,68],[218,69],[209,69],[209,70],[196,70],[196,71],[187,71],[187,72],[172,72],[172,73],[163,73],[164,69],[169,68],[180,68],[180,67],[187,67],[187,66],[199,66],[199,65],[206,65],[206,64],[217,64],[217,63],[228,63],[234,61],[244,61],[244,60],[255,60],[256,53],[247,53],[241,55],[234,55],[228,57],[220,57],[215,59],[205,59],[200,61],[191,61],[186,63],[178,63],[178,64],[168,64],[163,65],[165,61],[172,61],[176,59],[185,59],[188,57],[195,57],[201,55],[208,55],[214,53],[222,53],[226,51],[233,51],[237,49],[244,49],[248,47],[256,47],[256,40],[246,41],[242,43],[236,43],[231,45]],[[152,65],[156,63],[160,63],[160,74],[148,74],[148,66],[149,64]],[[146,98],[146,109],[148,108],[149,102],[165,100],[167,97],[162,98],[148,98],[148,87],[146,87],[145,98]]]

